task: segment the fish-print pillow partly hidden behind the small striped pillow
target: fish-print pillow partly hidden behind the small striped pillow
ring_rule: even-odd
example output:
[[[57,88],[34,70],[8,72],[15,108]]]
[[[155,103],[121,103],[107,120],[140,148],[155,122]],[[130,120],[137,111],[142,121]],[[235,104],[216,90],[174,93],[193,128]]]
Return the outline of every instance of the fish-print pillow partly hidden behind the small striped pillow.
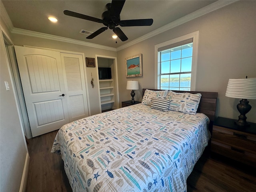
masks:
[[[168,90],[153,91],[153,90],[146,89],[141,103],[144,104],[144,105],[149,105],[150,106],[152,98],[165,99],[167,93],[168,93]]]

